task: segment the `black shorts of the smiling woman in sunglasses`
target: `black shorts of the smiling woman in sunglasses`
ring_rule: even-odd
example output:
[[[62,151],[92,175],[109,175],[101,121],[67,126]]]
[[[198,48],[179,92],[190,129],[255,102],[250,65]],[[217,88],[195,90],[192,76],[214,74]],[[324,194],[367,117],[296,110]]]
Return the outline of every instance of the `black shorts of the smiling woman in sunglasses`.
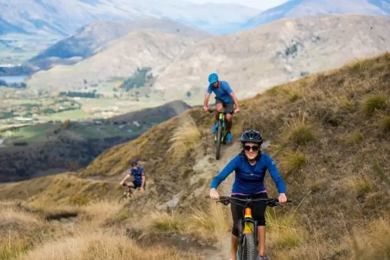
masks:
[[[268,194],[266,192],[257,193],[254,195],[232,195],[234,198],[240,198],[240,199],[258,199],[258,198],[268,198]],[[243,204],[241,202],[238,202],[240,204]],[[267,208],[267,204],[265,202],[254,202],[252,203],[252,218],[257,221],[258,226],[265,226],[265,210]],[[244,219],[244,206],[237,205],[235,203],[231,203],[231,210],[232,210],[232,217],[233,217],[233,228],[232,228],[232,234],[236,237],[239,235],[239,229],[238,229],[238,220]]]

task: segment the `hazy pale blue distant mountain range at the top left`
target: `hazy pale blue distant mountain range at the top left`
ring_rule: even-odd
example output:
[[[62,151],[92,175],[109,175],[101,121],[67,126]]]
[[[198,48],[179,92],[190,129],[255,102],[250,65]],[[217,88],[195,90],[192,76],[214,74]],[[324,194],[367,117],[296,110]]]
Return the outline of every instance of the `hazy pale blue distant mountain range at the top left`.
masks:
[[[220,15],[205,15],[216,9]],[[218,32],[225,24],[241,23],[259,13],[259,10],[238,4],[196,4],[184,0],[1,0],[0,10],[0,32],[63,37],[95,20],[148,18],[172,19]]]

